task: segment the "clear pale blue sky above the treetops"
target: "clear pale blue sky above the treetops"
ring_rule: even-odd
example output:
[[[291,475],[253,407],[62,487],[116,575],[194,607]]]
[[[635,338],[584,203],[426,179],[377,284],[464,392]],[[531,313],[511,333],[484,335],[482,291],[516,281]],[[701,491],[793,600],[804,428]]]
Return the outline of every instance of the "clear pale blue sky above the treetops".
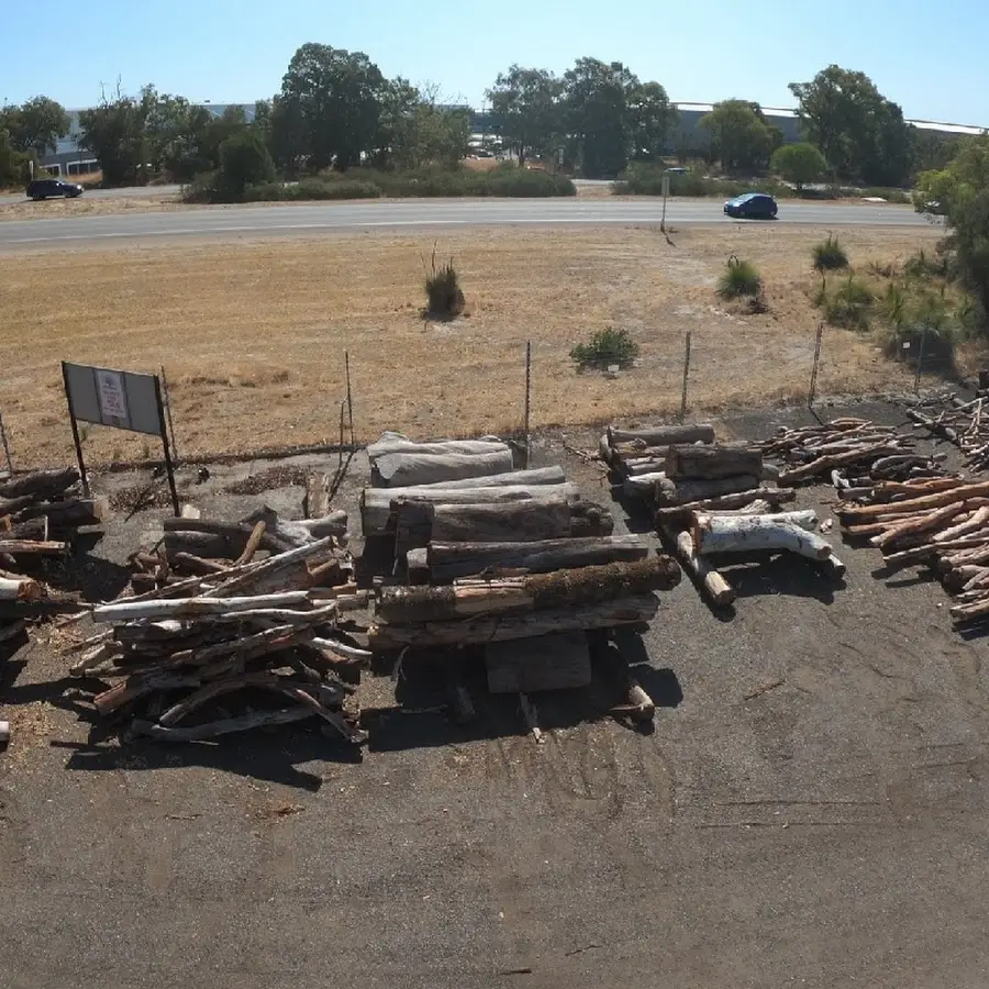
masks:
[[[907,116],[989,126],[985,0],[99,0],[63,13],[53,30],[3,16],[0,103],[45,93],[90,105],[118,77],[131,92],[153,82],[197,102],[249,102],[276,92],[296,48],[315,41],[471,103],[513,62],[563,73],[591,55],[674,100],[788,107],[788,82],[836,62],[871,76]]]

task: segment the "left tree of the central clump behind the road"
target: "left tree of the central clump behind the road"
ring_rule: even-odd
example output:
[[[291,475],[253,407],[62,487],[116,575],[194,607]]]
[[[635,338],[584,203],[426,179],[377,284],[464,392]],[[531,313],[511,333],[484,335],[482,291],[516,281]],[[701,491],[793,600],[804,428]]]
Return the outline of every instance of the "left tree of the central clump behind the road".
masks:
[[[563,123],[563,81],[553,73],[513,65],[499,73],[487,96],[492,125],[520,165],[553,149]]]

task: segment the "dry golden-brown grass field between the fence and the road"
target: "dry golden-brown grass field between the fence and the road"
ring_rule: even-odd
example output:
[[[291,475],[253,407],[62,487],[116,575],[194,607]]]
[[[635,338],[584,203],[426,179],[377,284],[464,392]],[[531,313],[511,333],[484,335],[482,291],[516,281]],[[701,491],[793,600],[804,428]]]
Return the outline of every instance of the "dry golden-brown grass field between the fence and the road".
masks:
[[[684,334],[693,334],[692,412],[805,393],[816,313],[810,248],[819,229],[473,230],[444,236],[466,316],[426,322],[429,234],[156,244],[0,255],[2,412],[19,464],[63,462],[71,437],[59,360],[132,370],[164,365],[184,455],[333,441],[349,352],[356,426],[420,436],[518,427],[533,343],[533,424],[586,423],[679,408]],[[932,247],[935,230],[841,234],[853,263]],[[769,311],[721,303],[731,254],[755,263]],[[570,348],[604,326],[640,342],[616,380],[578,375]],[[820,393],[902,386],[876,342],[827,330]],[[93,427],[93,460],[141,456],[145,437]]]

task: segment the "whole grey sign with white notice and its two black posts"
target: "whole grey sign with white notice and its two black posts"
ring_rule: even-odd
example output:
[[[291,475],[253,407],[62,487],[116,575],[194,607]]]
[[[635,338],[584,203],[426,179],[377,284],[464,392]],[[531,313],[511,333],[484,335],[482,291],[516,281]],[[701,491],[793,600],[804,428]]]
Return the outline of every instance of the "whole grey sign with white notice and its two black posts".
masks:
[[[82,490],[89,497],[89,480],[79,437],[79,421],[93,422],[134,433],[159,436],[165,455],[165,470],[171,492],[171,507],[179,515],[178,491],[175,487],[175,465],[168,443],[168,423],[162,401],[162,382],[155,375],[137,375],[131,371],[90,367],[84,364],[62,362],[62,378],[68,402],[73,440]]]

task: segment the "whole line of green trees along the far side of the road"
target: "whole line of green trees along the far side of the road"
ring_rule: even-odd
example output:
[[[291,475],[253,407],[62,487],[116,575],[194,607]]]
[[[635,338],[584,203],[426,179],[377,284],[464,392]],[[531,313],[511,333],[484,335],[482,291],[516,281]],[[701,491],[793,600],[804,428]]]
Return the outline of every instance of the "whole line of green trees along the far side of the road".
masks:
[[[803,135],[835,179],[904,185],[951,157],[943,135],[910,126],[863,73],[832,65],[790,89]],[[691,147],[659,82],[596,58],[578,59],[563,76],[513,65],[488,98],[491,130],[520,163],[547,158],[588,177],[657,162],[671,146],[685,157],[700,152],[729,173],[754,174],[769,167],[782,144],[758,103],[732,99],[701,119],[703,140]],[[282,174],[362,163],[453,166],[465,155],[470,131],[468,112],[441,105],[434,89],[387,79],[363,53],[321,44],[296,52],[280,92],[258,102],[249,120],[240,108],[216,116],[147,86],[137,96],[118,90],[104,97],[79,123],[82,145],[112,184],[141,181],[149,173],[188,181],[215,170],[221,144],[246,133],[260,138]],[[45,97],[0,110],[0,180],[4,167],[10,171],[24,156],[54,149],[67,127],[63,108]],[[803,160],[810,163],[809,153]]]

